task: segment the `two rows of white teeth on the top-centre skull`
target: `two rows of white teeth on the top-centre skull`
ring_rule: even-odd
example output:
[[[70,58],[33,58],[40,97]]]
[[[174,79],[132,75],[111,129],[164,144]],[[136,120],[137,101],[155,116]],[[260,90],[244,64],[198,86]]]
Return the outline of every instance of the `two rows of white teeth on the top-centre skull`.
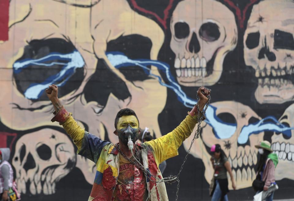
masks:
[[[175,59],[175,72],[177,77],[205,77],[207,61],[204,57]]]

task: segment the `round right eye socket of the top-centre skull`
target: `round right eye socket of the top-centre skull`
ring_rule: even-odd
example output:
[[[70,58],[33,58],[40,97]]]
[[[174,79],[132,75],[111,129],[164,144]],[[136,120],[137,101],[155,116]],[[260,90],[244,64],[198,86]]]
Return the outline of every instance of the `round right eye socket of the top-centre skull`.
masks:
[[[207,22],[201,25],[199,35],[203,40],[212,42],[220,38],[220,30],[217,24]]]

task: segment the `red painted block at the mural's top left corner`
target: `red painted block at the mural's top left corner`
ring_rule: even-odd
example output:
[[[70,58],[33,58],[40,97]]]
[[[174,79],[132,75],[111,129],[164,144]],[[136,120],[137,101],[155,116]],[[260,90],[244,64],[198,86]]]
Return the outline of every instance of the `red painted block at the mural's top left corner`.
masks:
[[[8,40],[9,0],[0,0],[0,40]]]

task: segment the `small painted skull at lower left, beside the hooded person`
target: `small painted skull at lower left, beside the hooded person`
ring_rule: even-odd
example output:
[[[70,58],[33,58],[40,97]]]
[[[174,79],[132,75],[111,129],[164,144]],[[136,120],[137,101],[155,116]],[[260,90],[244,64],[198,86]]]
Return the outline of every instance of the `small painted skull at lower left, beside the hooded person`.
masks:
[[[12,165],[21,193],[55,193],[55,186],[75,166],[73,143],[63,133],[44,128],[22,136],[16,143]]]

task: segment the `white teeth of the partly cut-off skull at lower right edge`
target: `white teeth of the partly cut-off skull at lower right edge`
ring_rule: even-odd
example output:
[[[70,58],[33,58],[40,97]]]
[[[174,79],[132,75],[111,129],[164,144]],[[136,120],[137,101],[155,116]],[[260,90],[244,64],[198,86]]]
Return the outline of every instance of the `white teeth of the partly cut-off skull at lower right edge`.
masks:
[[[290,143],[273,143],[272,150],[277,154],[279,159],[289,162],[294,162],[294,144]]]

